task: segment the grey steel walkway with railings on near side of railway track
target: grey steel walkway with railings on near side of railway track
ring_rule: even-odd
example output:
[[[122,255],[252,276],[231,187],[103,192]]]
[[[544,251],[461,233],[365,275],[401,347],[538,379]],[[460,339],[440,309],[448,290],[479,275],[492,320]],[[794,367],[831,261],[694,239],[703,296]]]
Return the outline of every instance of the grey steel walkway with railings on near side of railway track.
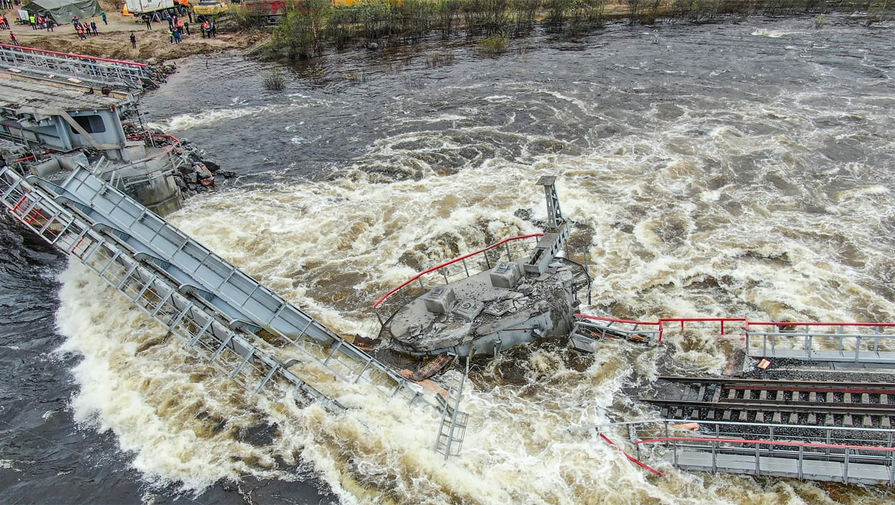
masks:
[[[895,485],[891,429],[658,419],[570,431],[622,432],[633,461],[663,460],[684,470]]]

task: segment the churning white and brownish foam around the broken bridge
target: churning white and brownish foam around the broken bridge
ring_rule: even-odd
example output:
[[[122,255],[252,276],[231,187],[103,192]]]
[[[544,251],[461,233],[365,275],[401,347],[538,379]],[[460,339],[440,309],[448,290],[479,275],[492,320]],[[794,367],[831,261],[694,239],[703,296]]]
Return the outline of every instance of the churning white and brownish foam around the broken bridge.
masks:
[[[886,174],[861,164],[839,170],[819,152],[882,116],[872,100],[852,102],[849,90],[838,90],[849,95],[850,113],[868,120],[816,127],[819,117],[841,116],[843,98],[827,91],[682,94],[680,114],[651,103],[642,115],[626,109],[627,98],[605,111],[575,92],[544,92],[529,103],[520,98],[520,109],[582,123],[576,134],[606,129],[583,134],[579,152],[545,153],[540,143],[570,140],[550,132],[558,127],[547,118],[532,132],[490,118],[436,131],[424,118],[426,129],[377,139],[330,181],[201,195],[171,220],[336,331],[369,336],[372,303],[415,272],[537,231],[546,211],[533,182],[558,175],[573,256],[586,255],[597,279],[588,310],[635,319],[895,319],[891,297],[878,294],[895,270]],[[548,105],[538,103],[542,95]],[[483,102],[500,104],[503,96],[489,89]],[[479,151],[451,158],[467,142]],[[874,146],[885,149],[868,149]],[[455,161],[455,170],[444,160]],[[869,177],[886,182],[856,183]],[[245,474],[297,478],[272,463],[281,459],[325,480],[343,503],[836,501],[810,483],[691,475],[667,465],[668,477],[654,479],[593,432],[567,431],[655,416],[622,389],[648,383],[668,362],[689,373],[719,371],[729,343],[704,335],[670,335],[667,349],[611,342],[584,358],[535,346],[476,368],[463,403],[471,424],[462,456],[444,463],[432,451],[431,413],[360,385],[340,398],[356,406],[346,416],[276,395],[246,396],[99,281],[76,267],[62,281],[64,349],[84,356],[74,370],[76,418],[114,431],[153,482],[201,489]],[[197,411],[207,414],[196,419]],[[231,418],[215,431],[215,419]],[[236,438],[264,422],[277,426],[270,443]],[[854,494],[855,503],[885,502],[874,491]]]

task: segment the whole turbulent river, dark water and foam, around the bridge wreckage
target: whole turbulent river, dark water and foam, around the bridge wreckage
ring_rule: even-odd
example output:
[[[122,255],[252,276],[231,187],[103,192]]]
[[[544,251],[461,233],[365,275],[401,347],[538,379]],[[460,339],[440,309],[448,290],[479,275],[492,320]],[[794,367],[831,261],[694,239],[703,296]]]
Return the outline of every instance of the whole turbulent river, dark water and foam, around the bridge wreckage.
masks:
[[[612,26],[577,41],[178,64],[145,119],[238,176],[171,221],[341,333],[417,271],[538,231],[557,175],[587,310],[893,321],[895,37],[828,18]],[[874,504],[884,489],[651,477],[568,428],[650,418],[629,386],[725,344],[557,341],[478,363],[461,456],[354,389],[333,415],[246,394],[89,272],[0,222],[0,502]]]

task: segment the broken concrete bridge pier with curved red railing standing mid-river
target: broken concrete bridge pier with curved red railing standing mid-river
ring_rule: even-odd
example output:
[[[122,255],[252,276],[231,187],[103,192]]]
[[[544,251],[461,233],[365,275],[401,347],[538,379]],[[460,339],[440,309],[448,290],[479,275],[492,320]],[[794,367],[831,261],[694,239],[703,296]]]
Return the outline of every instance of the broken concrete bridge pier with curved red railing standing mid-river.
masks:
[[[573,309],[589,297],[590,276],[563,256],[570,232],[555,181],[538,180],[547,201],[543,233],[442,263],[380,298],[382,345],[416,357],[465,357],[567,335]]]

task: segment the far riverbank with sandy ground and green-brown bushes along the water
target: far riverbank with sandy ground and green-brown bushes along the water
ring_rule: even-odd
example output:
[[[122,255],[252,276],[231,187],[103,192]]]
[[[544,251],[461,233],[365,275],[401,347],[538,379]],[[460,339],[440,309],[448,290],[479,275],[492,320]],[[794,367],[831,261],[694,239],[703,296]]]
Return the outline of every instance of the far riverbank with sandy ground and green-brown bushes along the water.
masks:
[[[819,28],[826,21],[823,13],[830,10],[824,5],[806,4],[802,0],[789,0],[781,4],[741,0],[694,4],[668,0],[649,5],[632,0],[597,0],[578,6],[569,2],[548,4],[533,0],[506,4],[495,12],[461,9],[459,2],[391,4],[385,0],[378,1],[382,3],[360,8],[311,3],[310,10],[293,12],[282,18],[276,29],[265,26],[260,19],[253,20],[251,16],[237,13],[219,20],[219,25],[224,26],[219,26],[215,38],[202,37],[198,23],[193,23],[192,33],[184,34],[180,44],[171,42],[165,23],[154,23],[153,29],[148,30],[139,18],[122,15],[110,5],[104,6],[107,24],[99,16],[85,20],[95,22],[99,28],[99,35],[87,37],[86,40],[78,38],[71,24],[57,27],[54,32],[32,30],[27,25],[14,25],[13,31],[19,42],[26,46],[149,63],[231,49],[251,51],[262,59],[295,60],[311,59],[330,49],[341,50],[351,46],[373,48],[413,44],[438,33],[445,40],[458,36],[483,38],[481,44],[485,49],[501,52],[510,39],[530,36],[538,29],[555,35],[578,36],[592,32],[605,23],[624,21],[655,24],[663,20],[680,20],[698,24],[756,15],[790,14],[816,16],[815,24]],[[868,23],[885,19],[891,14],[889,8],[876,5],[874,1],[864,5],[847,0],[840,3],[838,8],[845,12],[865,12]],[[10,19],[16,17],[12,10],[5,14]],[[131,44],[132,34],[137,39],[136,47]],[[8,42],[8,34],[2,37],[4,42]]]

